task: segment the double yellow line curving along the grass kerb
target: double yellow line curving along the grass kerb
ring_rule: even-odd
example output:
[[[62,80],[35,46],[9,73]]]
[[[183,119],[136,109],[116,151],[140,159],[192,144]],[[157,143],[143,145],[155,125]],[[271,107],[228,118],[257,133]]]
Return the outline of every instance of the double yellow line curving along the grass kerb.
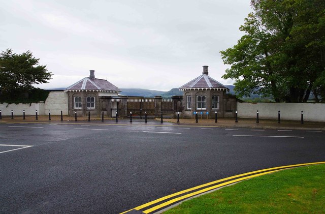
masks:
[[[190,197],[195,196],[195,195],[199,195],[199,194],[208,192],[210,190],[217,189],[219,187],[234,184],[235,182],[239,182],[239,181],[242,181],[242,180],[246,180],[246,179],[249,179],[249,178],[252,178],[252,177],[257,177],[257,176],[261,176],[261,175],[265,175],[265,174],[270,174],[270,173],[279,171],[281,169],[287,169],[287,168],[299,167],[299,166],[306,166],[306,165],[314,165],[314,164],[325,164],[325,162],[315,162],[315,163],[295,164],[295,165],[288,165],[288,166],[273,167],[273,168],[261,169],[261,170],[257,170],[257,171],[252,171],[252,172],[247,172],[247,173],[243,173],[243,174],[239,174],[239,175],[234,175],[234,176],[231,176],[231,177],[222,178],[222,179],[219,179],[219,180],[208,182],[207,184],[203,184],[203,185],[200,185],[200,186],[197,186],[197,187],[193,187],[193,188],[190,188],[190,189],[187,189],[187,190],[183,190],[183,191],[180,191],[180,192],[177,192],[177,193],[162,197],[162,198],[158,198],[158,199],[156,199],[154,201],[142,204],[142,205],[137,206],[137,207],[135,207],[133,209],[122,212],[120,214],[127,213],[127,212],[129,212],[131,210],[134,210],[134,209],[142,211],[144,208],[146,208],[148,206],[151,206],[151,205],[157,204],[158,202],[165,201],[167,199],[173,198],[171,200],[168,200],[166,202],[157,204],[157,205],[155,205],[155,206],[153,206],[151,208],[148,208],[148,209],[145,209],[145,210],[142,211],[144,213],[150,213],[150,212],[153,212],[153,211],[155,211],[157,209],[160,209],[160,208],[163,208],[165,206],[171,205],[171,204],[173,204],[175,202],[190,198]],[[237,179],[234,179],[234,178],[237,178]],[[229,181],[226,181],[226,180],[229,180]],[[223,182],[223,181],[226,181],[226,182]],[[220,182],[222,182],[222,183],[218,184],[218,185],[214,185],[214,184],[217,184],[217,183],[220,183]],[[214,186],[211,186],[211,185],[214,185]],[[211,187],[208,187],[208,186],[211,186]],[[204,188],[204,187],[207,187],[207,188]],[[204,188],[204,189],[202,189],[202,188]],[[200,190],[198,190],[198,189],[200,189]],[[198,190],[198,191],[191,192],[191,191],[194,191],[194,190]],[[191,192],[191,193],[185,194],[187,192]],[[182,194],[185,194],[185,195],[182,195]],[[179,195],[182,195],[182,196],[179,196]],[[179,196],[179,197],[174,198],[175,196]]]

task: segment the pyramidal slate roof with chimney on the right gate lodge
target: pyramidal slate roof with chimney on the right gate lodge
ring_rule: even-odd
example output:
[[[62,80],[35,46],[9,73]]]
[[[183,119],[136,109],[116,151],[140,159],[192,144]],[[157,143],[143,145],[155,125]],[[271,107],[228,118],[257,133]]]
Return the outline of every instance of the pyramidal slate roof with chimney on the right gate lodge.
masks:
[[[210,89],[210,90],[227,90],[229,88],[218,82],[217,80],[209,77],[208,66],[203,66],[203,73],[201,76],[187,82],[186,84],[179,87],[179,90],[190,90],[190,89]]]

